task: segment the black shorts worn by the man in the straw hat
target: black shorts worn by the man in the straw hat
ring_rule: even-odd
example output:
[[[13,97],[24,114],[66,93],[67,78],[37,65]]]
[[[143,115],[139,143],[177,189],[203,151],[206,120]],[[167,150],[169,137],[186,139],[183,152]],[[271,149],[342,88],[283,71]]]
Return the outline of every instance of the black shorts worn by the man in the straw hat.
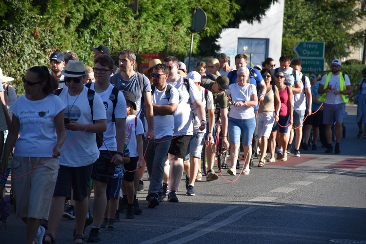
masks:
[[[67,200],[70,200],[72,187],[72,198],[75,201],[84,200],[88,197],[88,188],[92,170],[93,163],[81,167],[67,167],[60,165],[53,196],[66,197]]]

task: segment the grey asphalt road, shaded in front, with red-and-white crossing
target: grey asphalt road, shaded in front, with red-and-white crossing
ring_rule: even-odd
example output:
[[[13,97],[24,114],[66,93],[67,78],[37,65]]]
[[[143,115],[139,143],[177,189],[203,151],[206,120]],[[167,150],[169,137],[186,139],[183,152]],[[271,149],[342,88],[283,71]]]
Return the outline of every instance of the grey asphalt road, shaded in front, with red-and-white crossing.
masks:
[[[143,214],[134,220],[121,214],[116,229],[101,230],[100,243],[366,243],[366,140],[356,139],[356,107],[346,110],[341,154],[325,154],[318,142],[317,151],[255,167],[247,176],[203,177],[196,196],[185,195],[182,180],[179,203],[154,209],[144,200],[146,179],[138,193]],[[72,243],[73,228],[73,220],[62,220],[57,243]],[[12,210],[7,229],[0,225],[0,244],[24,242],[25,224]]]

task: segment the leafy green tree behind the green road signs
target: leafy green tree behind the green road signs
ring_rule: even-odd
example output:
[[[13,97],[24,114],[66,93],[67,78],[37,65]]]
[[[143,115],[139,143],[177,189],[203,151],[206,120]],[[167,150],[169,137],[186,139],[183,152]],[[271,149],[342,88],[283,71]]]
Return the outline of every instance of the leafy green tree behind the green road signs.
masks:
[[[295,40],[324,41],[328,63],[346,57],[349,46],[360,46],[365,40],[365,26],[351,33],[366,17],[361,3],[362,0],[286,0],[282,53],[295,57]]]

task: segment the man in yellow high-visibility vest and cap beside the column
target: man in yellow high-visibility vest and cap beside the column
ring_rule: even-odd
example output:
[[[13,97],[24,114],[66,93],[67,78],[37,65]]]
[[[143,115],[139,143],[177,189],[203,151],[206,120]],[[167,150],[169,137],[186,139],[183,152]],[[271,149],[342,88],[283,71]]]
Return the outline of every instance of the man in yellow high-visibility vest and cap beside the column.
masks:
[[[351,82],[349,77],[340,72],[342,63],[339,59],[332,61],[331,70],[320,81],[318,93],[323,94],[319,101],[324,101],[323,123],[325,124],[325,139],[327,149],[325,153],[333,151],[332,146],[332,124],[336,122],[336,144],[334,153],[341,153],[339,143],[343,132],[343,120],[346,114],[346,103],[348,96],[352,94]]]

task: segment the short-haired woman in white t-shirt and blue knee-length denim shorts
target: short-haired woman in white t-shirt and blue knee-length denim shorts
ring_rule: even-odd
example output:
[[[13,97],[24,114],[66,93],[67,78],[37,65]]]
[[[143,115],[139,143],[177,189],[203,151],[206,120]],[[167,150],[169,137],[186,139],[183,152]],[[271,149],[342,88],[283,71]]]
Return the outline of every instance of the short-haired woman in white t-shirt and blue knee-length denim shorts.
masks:
[[[240,147],[240,135],[242,134],[242,144],[244,147],[244,175],[249,174],[249,161],[251,158],[251,143],[255,129],[254,107],[258,105],[256,86],[247,83],[249,79],[249,69],[240,67],[237,71],[238,77],[235,84],[229,85],[226,90],[231,97],[234,106],[231,107],[228,121],[228,131],[230,137],[230,158],[231,168],[227,170],[230,175],[236,175],[236,162]],[[249,150],[250,149],[250,150]]]

